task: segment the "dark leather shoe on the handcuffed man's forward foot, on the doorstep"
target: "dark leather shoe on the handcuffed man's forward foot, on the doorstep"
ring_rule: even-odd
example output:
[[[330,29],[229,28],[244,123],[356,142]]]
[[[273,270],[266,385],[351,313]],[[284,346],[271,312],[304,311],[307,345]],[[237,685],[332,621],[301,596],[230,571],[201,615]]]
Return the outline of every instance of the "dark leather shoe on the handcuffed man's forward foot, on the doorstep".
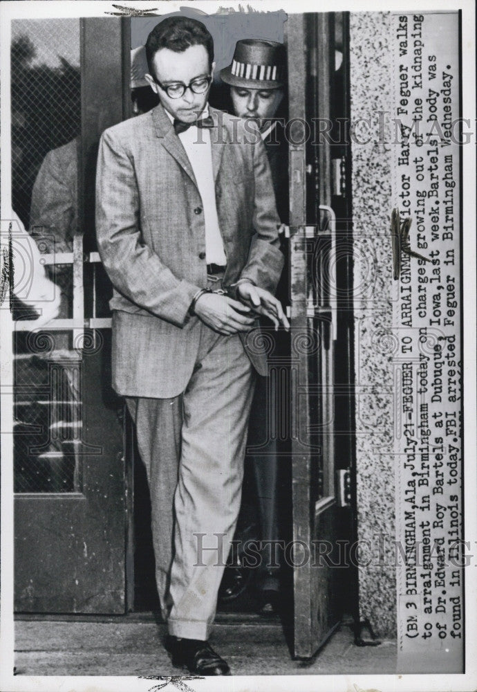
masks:
[[[167,635],[164,646],[171,654],[172,665],[197,675],[230,675],[227,662],[214,651],[208,641],[178,639]]]

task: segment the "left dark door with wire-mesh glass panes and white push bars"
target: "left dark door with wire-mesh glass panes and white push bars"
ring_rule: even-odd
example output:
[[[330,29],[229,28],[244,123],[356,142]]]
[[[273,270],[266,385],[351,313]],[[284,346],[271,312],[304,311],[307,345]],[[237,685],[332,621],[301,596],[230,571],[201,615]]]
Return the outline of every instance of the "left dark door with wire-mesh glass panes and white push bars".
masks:
[[[62,292],[48,329],[33,331],[21,304],[14,315],[22,612],[125,608],[121,407],[111,389],[111,287],[95,251],[92,192],[101,131],[123,116],[123,44],[119,19],[12,26],[12,199]],[[108,79],[95,89],[99,72]]]

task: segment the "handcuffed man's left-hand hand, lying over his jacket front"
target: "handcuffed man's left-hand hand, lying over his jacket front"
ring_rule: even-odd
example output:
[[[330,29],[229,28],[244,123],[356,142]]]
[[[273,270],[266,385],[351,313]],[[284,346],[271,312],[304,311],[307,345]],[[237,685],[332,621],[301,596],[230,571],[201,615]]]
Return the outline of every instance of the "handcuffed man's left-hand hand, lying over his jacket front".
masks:
[[[203,293],[194,306],[198,318],[220,334],[250,331],[255,321],[251,312],[250,307],[220,293]]]

